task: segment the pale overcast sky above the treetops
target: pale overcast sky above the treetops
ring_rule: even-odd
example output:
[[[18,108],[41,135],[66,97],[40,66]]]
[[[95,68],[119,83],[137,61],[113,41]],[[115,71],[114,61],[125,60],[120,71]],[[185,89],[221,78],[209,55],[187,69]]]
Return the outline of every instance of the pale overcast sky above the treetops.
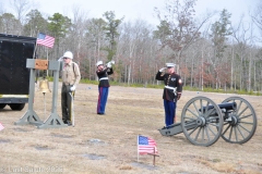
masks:
[[[0,0],[5,9],[10,8],[10,1]],[[154,8],[164,9],[165,0],[32,0],[36,3],[37,9],[41,13],[52,15],[61,13],[71,17],[72,8],[79,7],[85,11],[90,17],[103,17],[106,11],[115,11],[116,17],[124,21],[134,21],[142,18],[150,24],[157,25],[158,20],[155,17]],[[241,14],[248,16],[249,10],[260,0],[198,0],[195,10],[196,15],[201,16],[206,11],[222,11],[227,9],[233,14],[233,21],[238,22]]]

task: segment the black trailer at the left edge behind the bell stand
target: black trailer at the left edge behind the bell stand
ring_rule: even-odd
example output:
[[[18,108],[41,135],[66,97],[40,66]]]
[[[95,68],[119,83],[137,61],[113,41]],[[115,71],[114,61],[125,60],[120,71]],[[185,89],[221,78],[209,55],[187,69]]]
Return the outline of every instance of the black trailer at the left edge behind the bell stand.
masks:
[[[21,111],[28,102],[26,59],[33,59],[35,46],[36,38],[0,34],[0,109]]]

